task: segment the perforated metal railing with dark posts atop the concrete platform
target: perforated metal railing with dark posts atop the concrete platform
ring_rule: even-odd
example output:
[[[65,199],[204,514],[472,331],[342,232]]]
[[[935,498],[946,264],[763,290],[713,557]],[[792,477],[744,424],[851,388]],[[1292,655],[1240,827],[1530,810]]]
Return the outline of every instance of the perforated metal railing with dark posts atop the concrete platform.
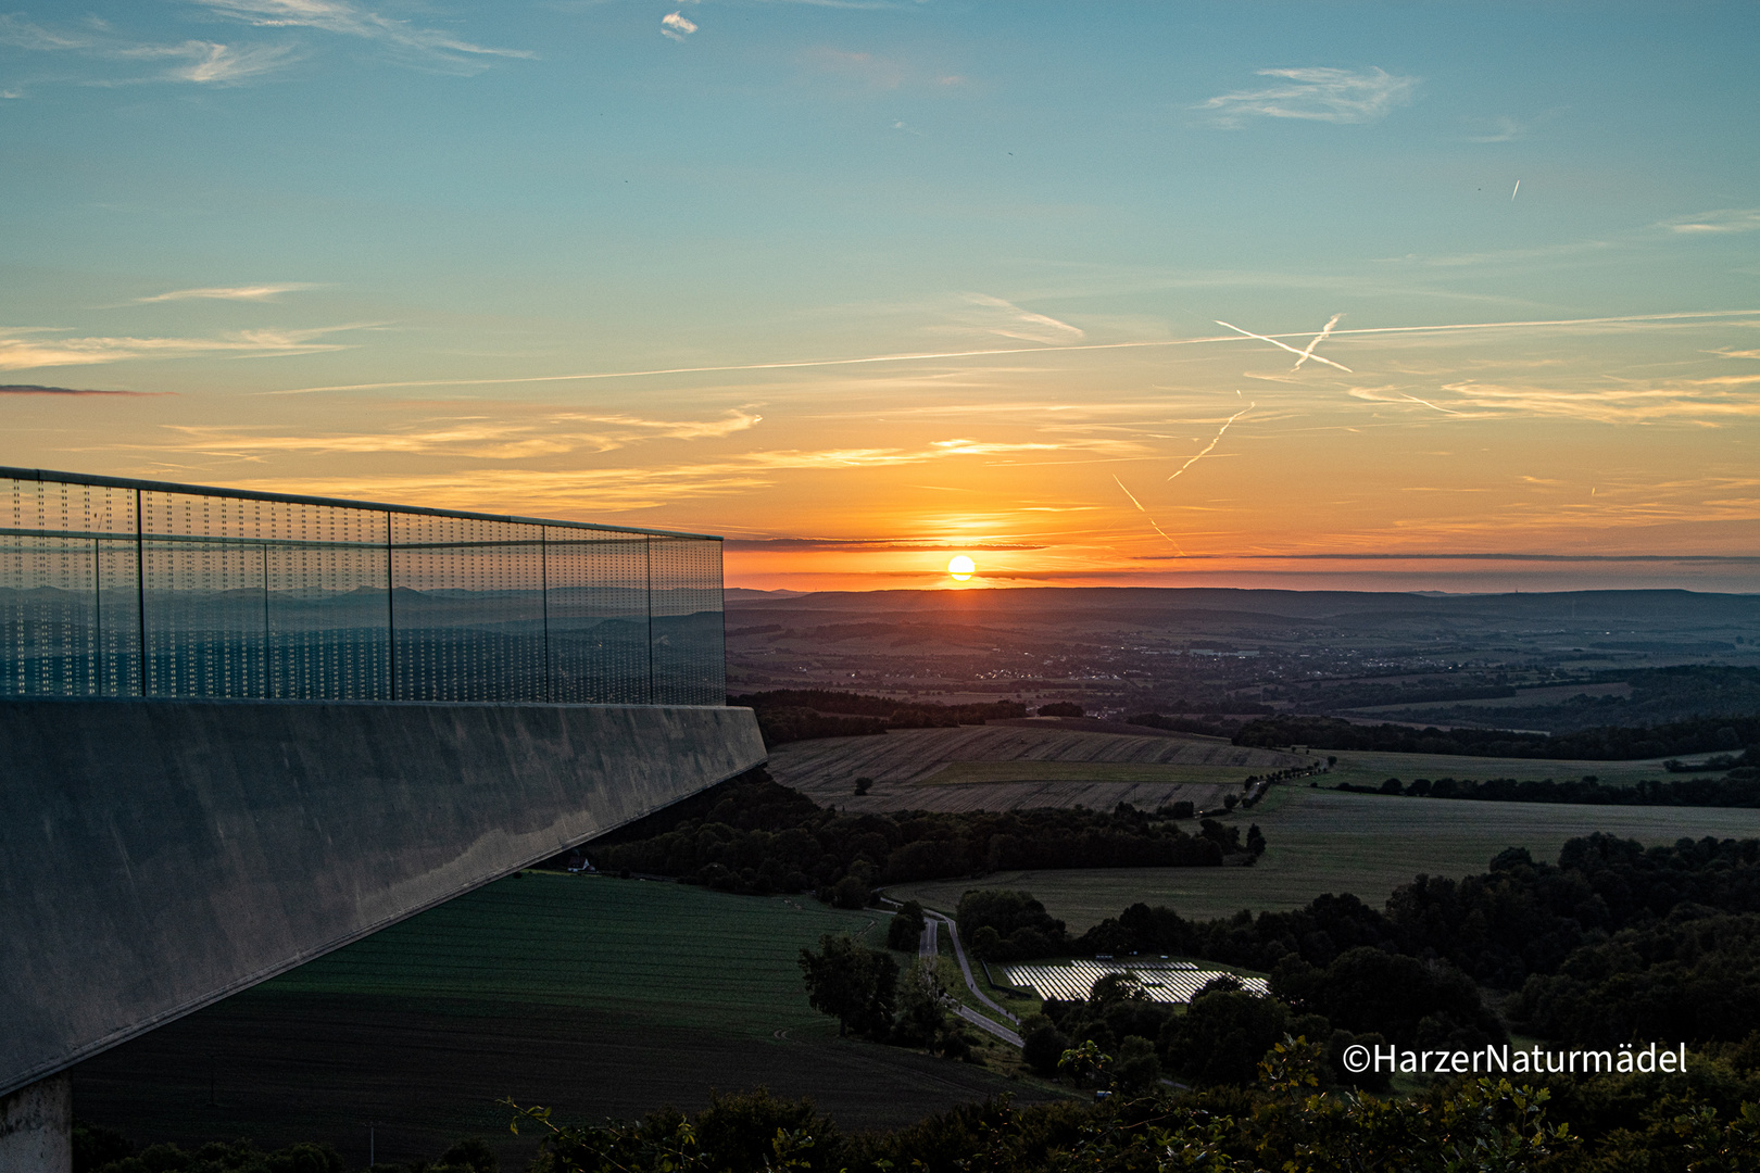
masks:
[[[0,468],[0,696],[720,705],[722,540]]]

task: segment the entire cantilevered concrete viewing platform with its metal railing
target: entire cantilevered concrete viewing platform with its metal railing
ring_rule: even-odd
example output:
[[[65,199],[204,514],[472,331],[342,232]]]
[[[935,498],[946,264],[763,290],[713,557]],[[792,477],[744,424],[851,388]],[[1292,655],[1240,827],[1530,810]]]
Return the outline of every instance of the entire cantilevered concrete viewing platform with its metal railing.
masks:
[[[0,1169],[65,1069],[764,760],[702,535],[0,468]]]

